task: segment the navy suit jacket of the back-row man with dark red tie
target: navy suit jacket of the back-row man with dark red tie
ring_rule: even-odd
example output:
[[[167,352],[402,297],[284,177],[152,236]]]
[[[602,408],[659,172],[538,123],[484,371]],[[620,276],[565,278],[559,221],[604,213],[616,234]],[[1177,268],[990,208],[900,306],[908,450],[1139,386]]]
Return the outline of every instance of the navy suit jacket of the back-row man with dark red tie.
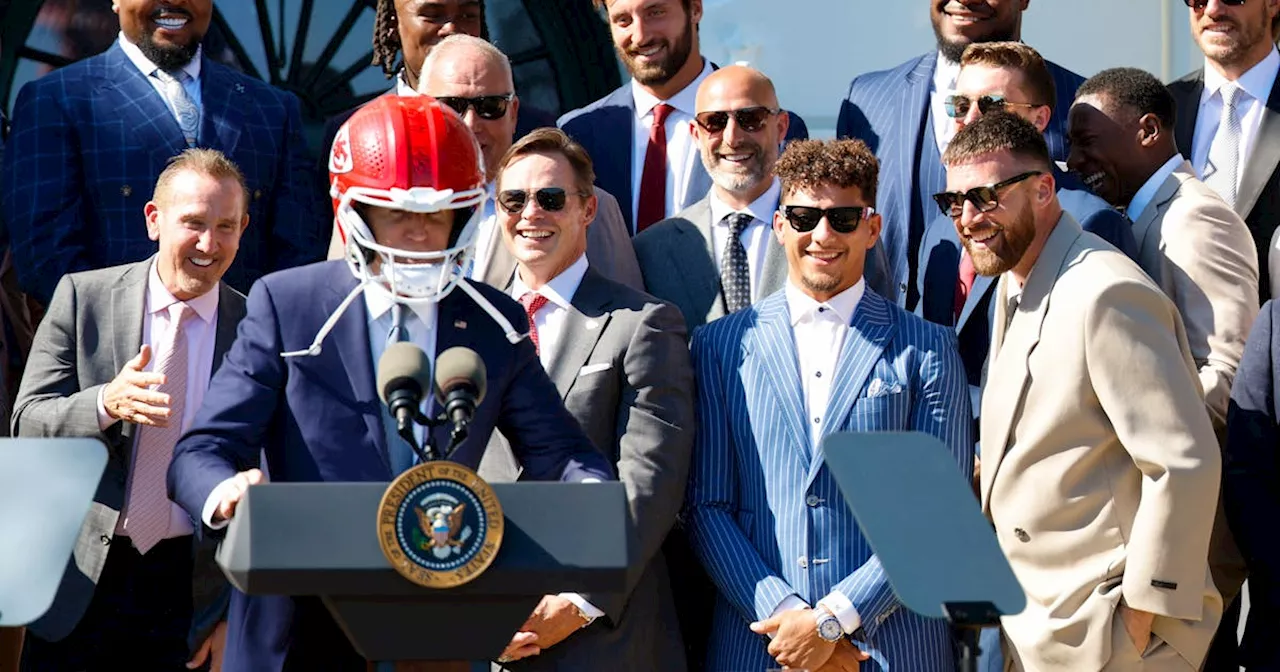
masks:
[[[716,64],[712,64],[716,68]],[[799,114],[788,111],[790,125],[783,142],[805,140],[809,128]],[[572,136],[586,152],[591,155],[595,166],[595,186],[612,193],[622,207],[622,219],[627,230],[635,230],[632,212],[635,195],[631,193],[631,150],[635,137],[636,100],[631,95],[631,82],[627,82],[603,99],[580,108],[559,118],[559,127]],[[687,201],[680,204],[684,210],[703,200],[712,188],[712,178],[701,160],[695,160],[694,174],[690,175]]]

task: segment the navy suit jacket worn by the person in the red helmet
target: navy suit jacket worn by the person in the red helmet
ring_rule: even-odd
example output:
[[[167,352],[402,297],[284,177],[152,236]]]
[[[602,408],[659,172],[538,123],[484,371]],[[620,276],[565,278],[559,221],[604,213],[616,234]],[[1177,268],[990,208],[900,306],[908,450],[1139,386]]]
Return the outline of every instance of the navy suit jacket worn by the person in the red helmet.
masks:
[[[344,261],[275,273],[255,283],[227,365],[210,383],[169,467],[169,495],[193,518],[200,520],[219,483],[257,466],[260,448],[275,483],[392,479],[362,301],[343,312],[319,355],[280,357],[306,349],[355,287]],[[475,287],[517,329],[527,330],[520,303],[492,287]],[[488,393],[453,462],[475,468],[498,428],[513,438],[530,479],[613,477],[609,462],[559,403],[527,338],[512,346],[461,289],[439,302],[436,324],[436,352],[470,347],[484,360],[488,376]],[[436,445],[448,445],[448,429],[436,428],[434,438]],[[227,672],[279,669],[285,662],[300,669],[332,669],[326,662],[355,657],[314,600],[233,591],[228,621]]]

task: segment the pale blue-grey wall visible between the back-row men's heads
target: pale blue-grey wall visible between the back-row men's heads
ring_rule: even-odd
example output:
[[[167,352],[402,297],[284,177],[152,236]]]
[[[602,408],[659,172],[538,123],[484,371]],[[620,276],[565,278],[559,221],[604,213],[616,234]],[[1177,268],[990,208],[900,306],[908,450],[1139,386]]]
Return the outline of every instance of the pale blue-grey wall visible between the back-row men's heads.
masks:
[[[849,81],[934,47],[933,0],[703,0],[703,54],[750,61],[817,137],[835,134]],[[1088,77],[1129,65],[1176,79],[1202,63],[1178,0],[1032,0],[1023,40]]]

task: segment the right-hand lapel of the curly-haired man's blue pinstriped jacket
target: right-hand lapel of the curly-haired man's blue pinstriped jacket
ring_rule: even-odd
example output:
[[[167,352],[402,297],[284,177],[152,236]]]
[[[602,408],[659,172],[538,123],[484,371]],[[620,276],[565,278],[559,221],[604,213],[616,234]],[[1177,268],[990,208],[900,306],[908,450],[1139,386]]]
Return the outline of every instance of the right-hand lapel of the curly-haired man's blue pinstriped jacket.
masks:
[[[835,433],[845,424],[854,408],[854,402],[867,387],[867,378],[876,362],[883,356],[884,344],[892,338],[893,330],[888,302],[876,292],[865,292],[854,310],[849,330],[845,333],[845,344],[840,348],[840,356],[836,360],[836,376],[832,379],[827,411],[822,416],[820,436]],[[813,463],[809,465],[805,489],[818,476],[822,465],[823,454],[822,451],[818,451]]]

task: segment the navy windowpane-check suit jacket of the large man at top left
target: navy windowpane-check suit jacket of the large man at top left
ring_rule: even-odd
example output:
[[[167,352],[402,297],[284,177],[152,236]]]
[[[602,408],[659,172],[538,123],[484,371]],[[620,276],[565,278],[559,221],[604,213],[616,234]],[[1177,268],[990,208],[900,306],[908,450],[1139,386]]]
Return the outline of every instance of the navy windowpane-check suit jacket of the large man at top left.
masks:
[[[197,145],[244,173],[250,224],[223,278],[244,292],[261,275],[324,259],[298,100],[204,58]],[[22,87],[4,156],[3,201],[19,285],[49,303],[67,273],[155,253],[142,209],[169,159],[187,148],[168,104],[120,45]]]

